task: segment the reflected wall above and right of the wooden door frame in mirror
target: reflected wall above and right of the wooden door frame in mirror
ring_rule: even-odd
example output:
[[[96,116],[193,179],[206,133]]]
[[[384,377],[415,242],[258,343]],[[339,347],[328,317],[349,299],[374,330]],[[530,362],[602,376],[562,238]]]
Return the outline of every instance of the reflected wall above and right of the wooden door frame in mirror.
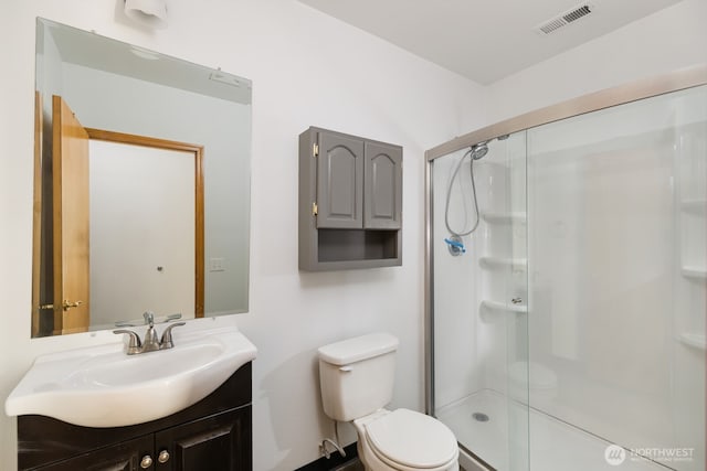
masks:
[[[241,222],[250,220],[251,106],[73,64],[63,78],[63,96],[85,127],[203,146],[204,312],[246,311],[250,232]],[[183,113],[166,106],[176,103]],[[225,269],[208,269],[211,258]]]

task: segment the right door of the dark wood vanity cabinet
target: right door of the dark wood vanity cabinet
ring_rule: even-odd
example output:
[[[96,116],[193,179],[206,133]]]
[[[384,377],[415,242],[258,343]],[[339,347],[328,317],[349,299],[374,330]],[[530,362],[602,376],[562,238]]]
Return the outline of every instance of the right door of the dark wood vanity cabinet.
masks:
[[[155,470],[252,470],[251,420],[247,406],[155,433]]]

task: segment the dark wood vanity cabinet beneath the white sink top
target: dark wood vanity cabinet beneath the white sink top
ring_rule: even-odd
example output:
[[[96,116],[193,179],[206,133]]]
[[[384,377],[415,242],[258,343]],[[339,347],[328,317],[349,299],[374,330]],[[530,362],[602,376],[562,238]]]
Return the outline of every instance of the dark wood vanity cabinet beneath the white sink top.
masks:
[[[159,397],[146,398],[159,400]],[[18,468],[42,471],[252,471],[251,364],[201,402],[158,420],[88,428],[18,417]]]

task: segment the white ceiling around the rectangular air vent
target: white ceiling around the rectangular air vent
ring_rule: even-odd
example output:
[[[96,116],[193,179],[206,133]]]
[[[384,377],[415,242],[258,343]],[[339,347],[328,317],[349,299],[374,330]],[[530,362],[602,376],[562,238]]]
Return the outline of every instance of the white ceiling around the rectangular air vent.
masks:
[[[479,84],[490,84],[680,0],[299,0]],[[535,28],[589,3],[545,35]]]

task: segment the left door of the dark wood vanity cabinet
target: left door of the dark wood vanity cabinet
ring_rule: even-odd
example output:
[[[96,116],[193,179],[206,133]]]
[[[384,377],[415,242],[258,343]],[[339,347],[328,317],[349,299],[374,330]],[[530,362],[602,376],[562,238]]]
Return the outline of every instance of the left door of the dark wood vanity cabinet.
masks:
[[[145,463],[154,461],[152,435],[124,441],[113,447],[102,448],[88,453],[80,454],[59,463],[34,468],[41,471],[143,471],[154,470],[155,465],[141,467],[145,457],[149,457]]]

